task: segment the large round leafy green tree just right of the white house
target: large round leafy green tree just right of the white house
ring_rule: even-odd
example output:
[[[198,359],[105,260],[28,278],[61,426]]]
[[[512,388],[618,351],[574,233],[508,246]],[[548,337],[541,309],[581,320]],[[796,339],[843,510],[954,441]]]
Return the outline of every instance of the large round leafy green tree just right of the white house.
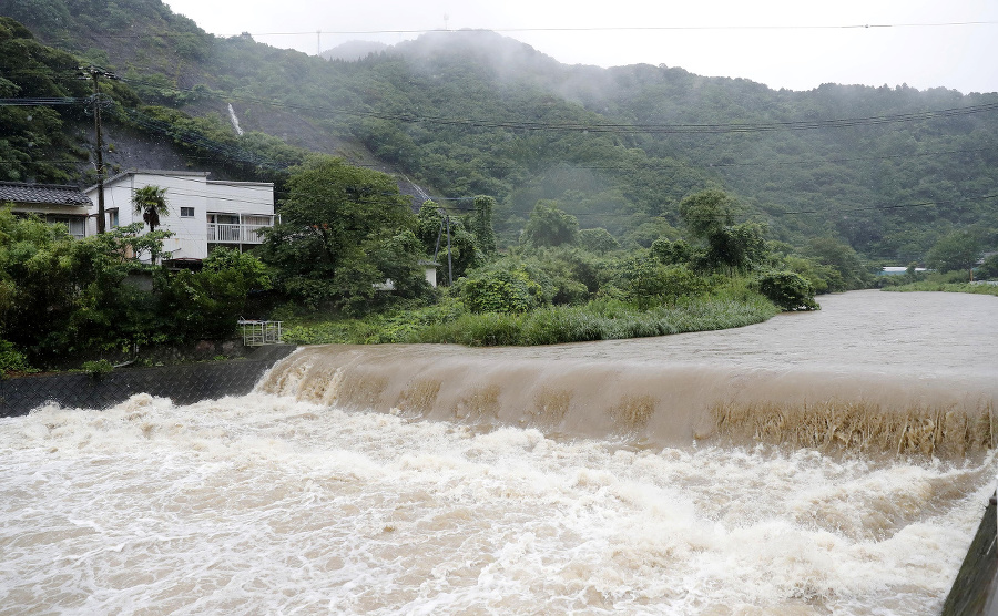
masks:
[[[281,223],[265,232],[261,247],[286,296],[312,308],[363,312],[375,307],[377,286],[393,275],[396,289],[416,292],[426,285],[418,242],[403,243],[409,251],[393,257],[405,264],[401,270],[387,270],[386,244],[416,228],[409,197],[391,176],[317,156],[293,171],[287,192]]]

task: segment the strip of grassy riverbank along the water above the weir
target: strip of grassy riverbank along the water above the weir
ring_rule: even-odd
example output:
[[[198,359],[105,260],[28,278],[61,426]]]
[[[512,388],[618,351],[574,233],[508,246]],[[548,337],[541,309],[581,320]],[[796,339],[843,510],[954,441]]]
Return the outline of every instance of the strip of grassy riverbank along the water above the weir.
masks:
[[[521,314],[477,314],[457,300],[445,300],[419,310],[366,319],[292,321],[285,327],[284,339],[298,345],[556,345],[743,327],[765,321],[780,311],[771,301],[748,291],[697,297],[649,310],[600,299],[583,306],[551,306]]]

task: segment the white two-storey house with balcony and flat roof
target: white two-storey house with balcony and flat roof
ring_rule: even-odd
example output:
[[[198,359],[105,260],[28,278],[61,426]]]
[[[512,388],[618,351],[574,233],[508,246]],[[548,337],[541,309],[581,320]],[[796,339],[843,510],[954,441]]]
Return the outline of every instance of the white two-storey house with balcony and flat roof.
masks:
[[[126,171],[104,182],[105,228],[141,223],[132,195],[145,186],[166,189],[169,214],[160,217],[163,230],[174,233],[163,249],[174,259],[203,259],[215,246],[238,249],[263,243],[257,233],[274,226],[274,184],[208,179],[207,172]],[[88,235],[96,233],[98,187],[90,197]]]

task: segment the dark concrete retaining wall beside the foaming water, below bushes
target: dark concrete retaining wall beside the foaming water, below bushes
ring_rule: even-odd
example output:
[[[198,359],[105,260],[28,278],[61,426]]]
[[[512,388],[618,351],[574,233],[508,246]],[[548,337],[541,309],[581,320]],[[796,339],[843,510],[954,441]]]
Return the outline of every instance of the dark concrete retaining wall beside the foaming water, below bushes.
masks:
[[[69,408],[105,409],[135,393],[170,398],[176,404],[243,396],[253,390],[274,363],[294,350],[292,345],[266,346],[245,359],[120,368],[101,379],[83,373],[7,379],[0,381],[0,417],[24,415],[49,401]]]

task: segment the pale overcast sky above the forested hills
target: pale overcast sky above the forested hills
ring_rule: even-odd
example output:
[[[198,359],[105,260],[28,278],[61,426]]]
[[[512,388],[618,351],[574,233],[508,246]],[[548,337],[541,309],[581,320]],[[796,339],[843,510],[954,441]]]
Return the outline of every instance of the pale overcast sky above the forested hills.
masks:
[[[998,91],[998,0],[164,2],[212,34],[249,32],[310,54],[348,40],[395,43],[472,28],[569,64],[665,64],[792,90],[831,82]]]

